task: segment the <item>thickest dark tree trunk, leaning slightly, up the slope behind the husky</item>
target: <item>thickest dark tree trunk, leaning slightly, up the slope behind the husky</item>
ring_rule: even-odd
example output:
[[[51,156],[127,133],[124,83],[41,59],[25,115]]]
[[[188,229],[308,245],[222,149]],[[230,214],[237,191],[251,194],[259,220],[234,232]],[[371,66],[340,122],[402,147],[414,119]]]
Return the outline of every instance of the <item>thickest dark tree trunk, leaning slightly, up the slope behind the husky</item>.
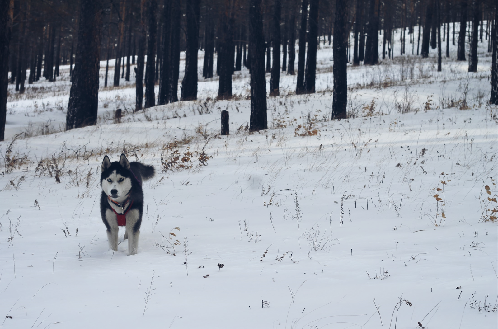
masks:
[[[102,2],[81,0],[80,8],[76,63],[66,115],[67,130],[97,123]]]

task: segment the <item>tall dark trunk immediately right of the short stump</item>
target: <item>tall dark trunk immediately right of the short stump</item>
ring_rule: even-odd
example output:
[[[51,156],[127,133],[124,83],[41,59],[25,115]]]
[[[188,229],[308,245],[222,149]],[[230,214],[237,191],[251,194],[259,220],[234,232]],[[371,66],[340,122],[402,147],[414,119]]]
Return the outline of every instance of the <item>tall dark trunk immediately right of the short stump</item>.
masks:
[[[261,0],[249,3],[250,118],[249,131],[268,129],[264,70],[264,34]]]

